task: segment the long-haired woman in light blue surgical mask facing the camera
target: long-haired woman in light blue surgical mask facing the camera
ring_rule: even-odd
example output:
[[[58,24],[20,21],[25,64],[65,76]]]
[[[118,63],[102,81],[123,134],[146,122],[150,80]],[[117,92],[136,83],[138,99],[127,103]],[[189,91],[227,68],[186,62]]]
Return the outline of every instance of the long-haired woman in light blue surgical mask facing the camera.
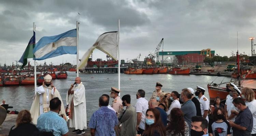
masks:
[[[166,129],[160,118],[160,112],[156,108],[150,108],[146,111],[145,130],[141,136],[166,136]],[[140,135],[136,135],[140,136]]]

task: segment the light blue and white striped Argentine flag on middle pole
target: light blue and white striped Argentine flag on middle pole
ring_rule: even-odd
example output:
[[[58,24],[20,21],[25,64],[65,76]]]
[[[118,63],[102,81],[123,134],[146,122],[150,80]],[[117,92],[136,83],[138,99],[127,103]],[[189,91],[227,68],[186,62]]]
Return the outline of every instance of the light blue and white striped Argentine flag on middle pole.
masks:
[[[63,54],[76,54],[76,29],[55,36],[42,37],[33,49],[34,60]]]

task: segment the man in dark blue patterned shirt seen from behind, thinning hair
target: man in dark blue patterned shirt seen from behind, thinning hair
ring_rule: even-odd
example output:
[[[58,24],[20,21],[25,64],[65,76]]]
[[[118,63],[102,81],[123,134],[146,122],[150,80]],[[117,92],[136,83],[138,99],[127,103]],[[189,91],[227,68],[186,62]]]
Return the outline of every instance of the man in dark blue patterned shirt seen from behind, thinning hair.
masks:
[[[115,136],[114,127],[118,123],[116,114],[108,108],[109,97],[99,98],[100,108],[91,116],[88,127],[91,129],[91,136]]]

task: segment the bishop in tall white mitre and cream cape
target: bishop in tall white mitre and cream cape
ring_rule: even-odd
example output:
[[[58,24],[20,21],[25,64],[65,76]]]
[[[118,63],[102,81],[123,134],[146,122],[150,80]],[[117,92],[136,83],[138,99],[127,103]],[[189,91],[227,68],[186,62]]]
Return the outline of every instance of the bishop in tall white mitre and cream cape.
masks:
[[[59,91],[54,87],[52,84],[52,76],[49,74],[46,74],[44,76],[44,82],[43,85],[37,87],[35,89],[35,97],[33,100],[33,103],[30,108],[30,114],[32,117],[32,123],[37,124],[38,117],[50,111],[49,109],[49,102],[55,97],[58,97],[61,101],[61,109],[60,109],[60,115],[63,114],[63,118],[66,119],[66,112],[65,108],[61,99],[61,96],[59,94]]]

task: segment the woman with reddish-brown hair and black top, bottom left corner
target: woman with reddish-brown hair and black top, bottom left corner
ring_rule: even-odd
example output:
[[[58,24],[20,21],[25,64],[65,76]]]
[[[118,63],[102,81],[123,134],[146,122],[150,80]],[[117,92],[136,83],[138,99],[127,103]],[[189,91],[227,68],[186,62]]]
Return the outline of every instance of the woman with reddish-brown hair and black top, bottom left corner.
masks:
[[[30,123],[31,120],[31,114],[28,110],[20,111],[16,119],[16,125],[14,125],[16,128],[13,129],[14,126],[12,126],[9,136],[32,136],[37,133],[38,129]]]

